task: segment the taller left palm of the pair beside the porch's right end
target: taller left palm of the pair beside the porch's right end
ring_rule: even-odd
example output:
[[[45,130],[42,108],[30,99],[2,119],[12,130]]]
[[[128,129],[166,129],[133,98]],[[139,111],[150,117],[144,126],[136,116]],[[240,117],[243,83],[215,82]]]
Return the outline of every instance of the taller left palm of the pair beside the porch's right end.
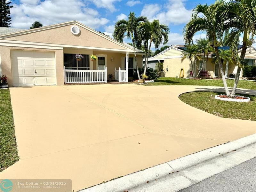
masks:
[[[140,79],[140,73],[139,73],[137,55],[136,55],[136,45],[140,44],[139,37],[138,37],[138,27],[143,22],[147,22],[147,21],[148,19],[146,17],[143,17],[143,16],[135,17],[135,13],[130,12],[130,14],[128,15],[128,20],[122,19],[116,22],[115,30],[113,33],[114,39],[121,43],[123,43],[123,38],[125,34],[129,39],[132,39],[135,64],[136,64],[137,75],[139,79]]]

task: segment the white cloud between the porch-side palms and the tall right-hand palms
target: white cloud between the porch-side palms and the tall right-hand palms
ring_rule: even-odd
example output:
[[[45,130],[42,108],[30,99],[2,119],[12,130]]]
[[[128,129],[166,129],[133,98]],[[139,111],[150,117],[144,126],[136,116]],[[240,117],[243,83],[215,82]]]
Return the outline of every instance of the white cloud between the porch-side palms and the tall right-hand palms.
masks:
[[[148,4],[143,7],[141,15],[148,17],[149,20],[159,19],[165,25],[185,24],[188,22],[192,10],[186,9],[183,1],[169,0],[163,8],[159,4]]]

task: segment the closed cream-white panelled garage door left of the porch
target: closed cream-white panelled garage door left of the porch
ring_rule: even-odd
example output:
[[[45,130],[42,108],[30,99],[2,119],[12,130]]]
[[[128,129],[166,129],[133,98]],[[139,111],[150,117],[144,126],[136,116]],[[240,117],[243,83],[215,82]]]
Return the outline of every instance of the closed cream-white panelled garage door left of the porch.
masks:
[[[54,52],[11,51],[13,86],[56,85]]]

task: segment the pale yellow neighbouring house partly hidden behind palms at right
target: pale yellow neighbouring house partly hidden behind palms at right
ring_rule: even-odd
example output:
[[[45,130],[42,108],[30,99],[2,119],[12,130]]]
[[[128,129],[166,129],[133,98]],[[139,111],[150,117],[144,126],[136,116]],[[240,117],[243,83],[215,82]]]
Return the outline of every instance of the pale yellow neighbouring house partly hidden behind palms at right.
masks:
[[[185,46],[183,45],[176,45],[173,44],[169,48],[165,49],[163,52],[160,52],[154,57],[151,57],[148,59],[148,66],[154,66],[157,62],[163,62],[164,63],[164,70],[165,70],[165,76],[166,77],[179,77],[180,76],[180,69],[184,69],[184,78],[190,77],[190,71],[192,71],[190,61],[188,59],[181,62],[181,53],[184,50]],[[224,49],[228,47],[223,47]],[[242,51],[242,46],[238,46],[238,54],[240,56],[240,53]],[[145,62],[145,59],[144,59]],[[256,66],[256,49],[252,46],[248,46],[245,54],[245,62],[248,63],[248,65]],[[196,65],[195,65],[196,64]],[[218,77],[220,75],[220,69],[219,66],[212,63],[211,55],[209,55],[209,59],[207,62],[203,63],[203,60],[193,60],[193,65],[195,67],[195,75],[198,74],[198,69],[202,67],[203,70],[207,71],[209,73],[208,78]],[[228,74],[235,73],[237,67],[236,65],[232,65],[230,63],[227,64],[227,66],[223,66],[223,70],[225,72],[226,77],[228,77]],[[240,76],[243,75],[243,71],[241,72]]]

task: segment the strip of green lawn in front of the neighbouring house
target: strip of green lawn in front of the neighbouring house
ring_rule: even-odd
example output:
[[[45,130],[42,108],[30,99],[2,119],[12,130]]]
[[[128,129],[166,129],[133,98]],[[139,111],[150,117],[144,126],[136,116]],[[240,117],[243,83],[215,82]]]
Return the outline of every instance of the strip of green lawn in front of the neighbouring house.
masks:
[[[234,80],[227,79],[228,87],[233,87]],[[147,85],[205,85],[205,86],[222,86],[223,83],[221,79],[180,79],[174,77],[160,77],[159,79],[155,80],[154,83],[149,83]],[[255,81],[244,81],[240,80],[238,82],[238,88],[244,89],[256,89],[256,82]]]

